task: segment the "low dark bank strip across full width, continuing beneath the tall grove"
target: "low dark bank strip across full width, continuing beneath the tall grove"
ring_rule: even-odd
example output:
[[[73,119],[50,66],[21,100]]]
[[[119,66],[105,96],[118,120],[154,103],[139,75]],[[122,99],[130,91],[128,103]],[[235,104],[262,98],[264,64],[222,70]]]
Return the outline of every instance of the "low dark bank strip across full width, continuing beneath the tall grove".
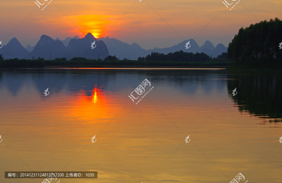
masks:
[[[282,70],[282,65],[242,65],[227,59],[210,58],[210,61],[161,61],[161,60],[89,60],[75,57],[71,60],[60,58],[56,60],[8,59],[0,60],[0,69],[28,69],[28,68],[205,68],[226,69],[229,71],[272,71]]]

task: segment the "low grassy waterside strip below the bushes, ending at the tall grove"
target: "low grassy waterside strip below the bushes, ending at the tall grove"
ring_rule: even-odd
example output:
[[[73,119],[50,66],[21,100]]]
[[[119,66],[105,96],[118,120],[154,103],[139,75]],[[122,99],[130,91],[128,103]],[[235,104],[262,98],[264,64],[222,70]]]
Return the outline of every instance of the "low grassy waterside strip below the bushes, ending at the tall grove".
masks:
[[[137,60],[91,60],[64,61],[55,60],[7,60],[0,61],[0,68],[227,68],[230,62],[178,62],[178,61],[137,61]]]

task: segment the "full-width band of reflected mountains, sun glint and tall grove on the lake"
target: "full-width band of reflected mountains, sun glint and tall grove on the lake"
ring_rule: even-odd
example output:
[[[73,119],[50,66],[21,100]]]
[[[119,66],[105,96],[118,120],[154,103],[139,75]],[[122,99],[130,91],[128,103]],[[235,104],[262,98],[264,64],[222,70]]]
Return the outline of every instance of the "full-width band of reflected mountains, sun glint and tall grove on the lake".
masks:
[[[212,91],[227,94],[237,88],[232,97],[240,112],[268,120],[270,123],[282,120],[282,78],[281,74],[253,73],[230,74],[222,70],[89,70],[89,69],[41,69],[2,70],[0,84],[6,86],[9,94],[17,96],[25,85],[35,85],[37,92],[46,88],[52,93],[64,91],[67,95],[80,93],[86,101],[96,103],[104,90],[115,93],[128,87],[134,89],[141,80],[158,82],[175,88],[186,95],[194,95],[201,87],[204,95]],[[110,82],[110,86],[109,85]],[[199,86],[199,83],[202,85]],[[131,89],[130,89],[131,88]],[[127,94],[125,94],[126,96]]]

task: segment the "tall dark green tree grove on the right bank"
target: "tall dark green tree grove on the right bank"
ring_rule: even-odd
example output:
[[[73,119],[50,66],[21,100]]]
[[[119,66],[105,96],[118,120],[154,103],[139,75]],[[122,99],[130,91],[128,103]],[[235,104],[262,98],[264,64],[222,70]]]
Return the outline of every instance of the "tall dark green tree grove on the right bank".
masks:
[[[227,58],[238,65],[281,65],[282,21],[279,18],[264,20],[239,29],[229,43]]]

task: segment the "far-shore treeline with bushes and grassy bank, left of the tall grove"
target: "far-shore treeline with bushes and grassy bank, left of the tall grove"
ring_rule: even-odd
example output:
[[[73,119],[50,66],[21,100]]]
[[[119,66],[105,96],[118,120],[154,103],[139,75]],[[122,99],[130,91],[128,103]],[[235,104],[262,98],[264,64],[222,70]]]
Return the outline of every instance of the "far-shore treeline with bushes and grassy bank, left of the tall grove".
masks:
[[[211,58],[204,53],[187,53],[182,50],[175,53],[160,54],[152,52],[138,60],[118,60],[116,56],[107,56],[104,60],[91,60],[84,57],[55,58],[55,60],[37,59],[1,59],[0,68],[227,68],[230,62],[227,53]]]

